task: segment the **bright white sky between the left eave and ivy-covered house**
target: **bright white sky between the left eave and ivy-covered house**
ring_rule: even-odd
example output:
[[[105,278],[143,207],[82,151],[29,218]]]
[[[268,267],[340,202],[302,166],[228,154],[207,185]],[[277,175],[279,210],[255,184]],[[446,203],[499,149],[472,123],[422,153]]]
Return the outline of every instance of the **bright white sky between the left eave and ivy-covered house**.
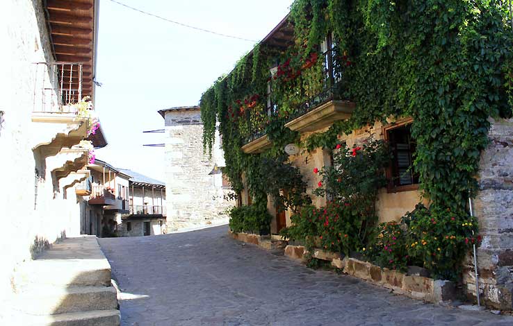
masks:
[[[261,40],[288,13],[292,0],[120,0],[161,17],[218,33]],[[195,31],[100,1],[96,110],[108,146],[99,160],[159,180],[164,143],[157,110],[197,105],[209,85],[254,44]]]

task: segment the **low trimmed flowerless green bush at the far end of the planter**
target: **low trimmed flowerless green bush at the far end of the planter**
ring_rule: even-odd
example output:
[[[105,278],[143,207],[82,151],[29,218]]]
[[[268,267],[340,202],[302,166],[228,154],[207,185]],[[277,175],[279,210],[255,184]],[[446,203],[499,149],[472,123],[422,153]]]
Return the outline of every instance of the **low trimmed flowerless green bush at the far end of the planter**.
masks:
[[[269,234],[272,216],[262,205],[233,207],[229,211],[229,227],[232,232]]]

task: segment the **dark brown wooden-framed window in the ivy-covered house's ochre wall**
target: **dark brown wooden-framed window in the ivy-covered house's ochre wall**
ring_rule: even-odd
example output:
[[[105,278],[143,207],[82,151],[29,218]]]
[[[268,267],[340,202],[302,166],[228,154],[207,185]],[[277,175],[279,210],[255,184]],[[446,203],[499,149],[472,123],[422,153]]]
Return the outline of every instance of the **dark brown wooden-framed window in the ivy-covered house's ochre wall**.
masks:
[[[414,190],[418,185],[418,173],[413,166],[416,143],[412,139],[411,128],[411,119],[384,128],[384,135],[393,155],[387,171],[391,191]]]

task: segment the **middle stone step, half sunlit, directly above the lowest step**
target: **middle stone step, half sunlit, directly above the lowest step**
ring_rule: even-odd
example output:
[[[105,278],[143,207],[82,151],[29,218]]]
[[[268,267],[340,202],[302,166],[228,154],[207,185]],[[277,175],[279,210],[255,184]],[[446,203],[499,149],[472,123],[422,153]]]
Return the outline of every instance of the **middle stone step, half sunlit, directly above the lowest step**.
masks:
[[[113,286],[35,286],[31,291],[18,293],[14,297],[10,304],[17,311],[32,315],[117,309]]]

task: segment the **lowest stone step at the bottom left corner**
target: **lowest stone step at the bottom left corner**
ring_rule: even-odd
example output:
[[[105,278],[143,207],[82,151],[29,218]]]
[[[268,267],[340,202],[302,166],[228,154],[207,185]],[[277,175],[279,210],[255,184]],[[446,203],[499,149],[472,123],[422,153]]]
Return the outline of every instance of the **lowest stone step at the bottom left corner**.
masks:
[[[24,326],[117,326],[119,310],[95,310],[46,316],[24,316],[13,325]]]

